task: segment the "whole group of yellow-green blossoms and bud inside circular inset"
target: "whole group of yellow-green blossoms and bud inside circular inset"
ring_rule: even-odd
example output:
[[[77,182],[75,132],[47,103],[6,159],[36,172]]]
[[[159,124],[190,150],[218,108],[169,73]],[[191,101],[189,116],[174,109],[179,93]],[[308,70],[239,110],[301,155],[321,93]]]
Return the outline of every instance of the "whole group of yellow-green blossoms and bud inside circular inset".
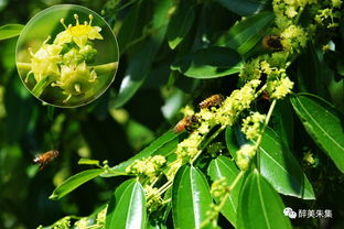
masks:
[[[99,26],[92,26],[93,15],[89,22],[79,24],[78,15],[74,14],[76,25],[61,23],[65,31],[58,33],[53,44],[47,44],[51,37],[35,53],[29,48],[31,55],[31,70],[25,81],[33,74],[36,85],[47,80],[52,87],[60,87],[66,95],[64,102],[72,96],[83,96],[90,91],[97,83],[96,72],[87,64],[95,59],[97,50],[93,47],[93,40],[103,40]]]

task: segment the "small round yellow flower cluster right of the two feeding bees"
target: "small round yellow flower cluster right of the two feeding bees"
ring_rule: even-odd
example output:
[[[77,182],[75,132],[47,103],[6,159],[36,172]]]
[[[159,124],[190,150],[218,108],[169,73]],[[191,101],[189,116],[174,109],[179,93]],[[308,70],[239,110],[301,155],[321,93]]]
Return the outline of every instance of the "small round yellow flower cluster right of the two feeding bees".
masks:
[[[266,115],[255,112],[243,120],[241,131],[248,140],[255,140],[262,133]]]

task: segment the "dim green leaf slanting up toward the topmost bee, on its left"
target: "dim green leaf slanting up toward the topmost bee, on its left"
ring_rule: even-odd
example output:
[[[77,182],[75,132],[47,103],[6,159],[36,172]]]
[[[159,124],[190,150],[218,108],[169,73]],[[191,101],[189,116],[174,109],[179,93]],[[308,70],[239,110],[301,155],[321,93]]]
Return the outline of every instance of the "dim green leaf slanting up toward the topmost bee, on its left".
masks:
[[[225,40],[226,46],[244,55],[261,41],[273,19],[272,12],[261,12],[249,17],[230,28],[222,39]]]

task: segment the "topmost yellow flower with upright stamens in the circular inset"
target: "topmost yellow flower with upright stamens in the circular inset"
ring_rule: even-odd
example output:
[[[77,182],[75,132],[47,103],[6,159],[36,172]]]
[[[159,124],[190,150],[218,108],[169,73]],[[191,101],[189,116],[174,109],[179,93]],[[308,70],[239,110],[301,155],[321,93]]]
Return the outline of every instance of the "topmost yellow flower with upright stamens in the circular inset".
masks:
[[[65,25],[64,19],[61,19],[61,23],[65,28],[65,31],[57,34],[54,44],[63,45],[73,41],[77,46],[83,47],[88,40],[103,40],[103,36],[99,33],[101,28],[92,26],[92,14],[89,14],[89,23],[85,21],[84,24],[79,24],[77,14],[74,14],[74,18],[76,24],[74,26],[69,24],[68,28]]]

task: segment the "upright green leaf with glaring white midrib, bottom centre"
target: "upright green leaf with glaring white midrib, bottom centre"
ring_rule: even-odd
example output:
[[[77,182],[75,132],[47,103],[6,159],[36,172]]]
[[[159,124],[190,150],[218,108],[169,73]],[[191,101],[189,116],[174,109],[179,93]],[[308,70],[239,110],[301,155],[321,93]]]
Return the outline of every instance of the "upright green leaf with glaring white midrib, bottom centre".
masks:
[[[212,196],[205,176],[197,168],[182,166],[172,186],[172,216],[174,228],[200,228],[206,219]]]

